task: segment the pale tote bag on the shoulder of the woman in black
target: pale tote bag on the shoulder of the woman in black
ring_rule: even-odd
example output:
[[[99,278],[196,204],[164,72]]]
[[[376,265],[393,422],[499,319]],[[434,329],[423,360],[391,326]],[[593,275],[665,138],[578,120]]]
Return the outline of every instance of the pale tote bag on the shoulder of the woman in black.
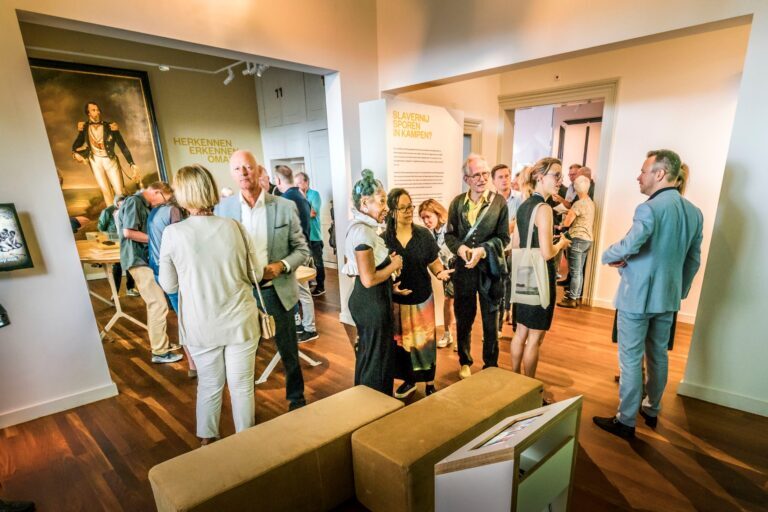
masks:
[[[541,255],[541,251],[531,249],[534,219],[539,206],[541,203],[537,204],[531,212],[528,242],[525,248],[512,249],[512,268],[509,274],[512,281],[513,303],[541,306],[546,309],[550,301],[547,262]]]

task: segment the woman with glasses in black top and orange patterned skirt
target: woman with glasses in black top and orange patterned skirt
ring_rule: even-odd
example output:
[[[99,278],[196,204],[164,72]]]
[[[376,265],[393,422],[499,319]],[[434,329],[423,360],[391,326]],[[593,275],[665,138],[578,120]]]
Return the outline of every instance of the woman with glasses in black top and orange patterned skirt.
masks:
[[[396,398],[416,391],[416,382],[426,382],[426,395],[435,392],[435,302],[431,271],[445,281],[452,270],[443,267],[440,248],[427,228],[413,224],[413,202],[402,188],[387,196],[387,230],[384,242],[390,251],[403,257],[403,269],[393,289],[394,335],[397,342],[395,378],[403,384]]]

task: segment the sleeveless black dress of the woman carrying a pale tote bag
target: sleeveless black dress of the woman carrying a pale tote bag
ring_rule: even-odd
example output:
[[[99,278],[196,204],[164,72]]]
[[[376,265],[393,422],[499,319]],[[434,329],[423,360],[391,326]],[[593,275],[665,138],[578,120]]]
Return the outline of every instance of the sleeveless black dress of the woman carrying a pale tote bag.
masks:
[[[526,199],[520,208],[517,209],[517,229],[520,234],[520,247],[527,247],[528,226],[533,209],[537,204],[545,203],[544,198],[539,194],[532,194]],[[539,230],[534,224],[533,238],[531,239],[531,248],[539,247]],[[552,326],[552,317],[555,315],[555,300],[557,297],[557,288],[555,287],[555,259],[547,260],[547,274],[549,275],[549,306],[545,309],[541,306],[529,306],[527,304],[515,304],[515,320],[518,324],[524,325],[529,329],[546,331]]]

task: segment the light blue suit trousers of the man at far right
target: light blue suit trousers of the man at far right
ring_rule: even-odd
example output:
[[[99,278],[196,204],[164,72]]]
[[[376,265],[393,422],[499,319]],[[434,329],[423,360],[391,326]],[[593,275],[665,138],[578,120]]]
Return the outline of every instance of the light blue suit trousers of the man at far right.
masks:
[[[647,362],[645,391],[642,403],[649,416],[658,416],[661,395],[667,385],[667,345],[674,312],[626,313],[619,311],[619,412],[616,417],[634,427],[643,396],[643,353]]]

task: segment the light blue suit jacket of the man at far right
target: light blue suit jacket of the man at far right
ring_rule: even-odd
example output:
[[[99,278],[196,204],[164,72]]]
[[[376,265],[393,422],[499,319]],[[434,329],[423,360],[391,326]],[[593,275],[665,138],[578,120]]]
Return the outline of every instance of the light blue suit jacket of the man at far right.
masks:
[[[701,264],[701,210],[673,188],[637,207],[632,228],[603,253],[625,261],[614,302],[626,313],[679,311]]]

